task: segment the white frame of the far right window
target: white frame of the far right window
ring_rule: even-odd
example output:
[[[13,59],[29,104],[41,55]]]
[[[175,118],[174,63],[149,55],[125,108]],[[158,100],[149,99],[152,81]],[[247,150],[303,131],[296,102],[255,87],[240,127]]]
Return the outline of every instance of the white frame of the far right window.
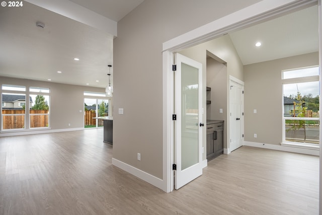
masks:
[[[320,117],[296,117],[296,119],[295,119],[295,117],[284,116],[284,113],[285,113],[285,108],[284,108],[285,107],[285,105],[284,105],[284,85],[286,85],[286,84],[296,84],[296,83],[307,83],[307,82],[318,82],[319,83],[319,75],[283,79],[283,72],[284,71],[290,71],[290,70],[299,70],[299,69],[311,68],[311,67],[317,67],[319,69],[318,65],[313,65],[313,66],[307,66],[307,67],[301,67],[301,68],[282,70],[282,73],[281,73],[281,75],[282,75],[282,142],[281,142],[281,146],[297,147],[297,148],[305,148],[305,149],[319,149],[319,143],[314,144],[314,143],[310,143],[310,142],[287,141],[286,140],[286,133],[285,133],[285,131],[286,131],[285,120],[319,121],[319,119],[320,119]],[[319,127],[319,129],[320,129],[320,127]],[[321,138],[321,137],[319,136],[319,138]]]

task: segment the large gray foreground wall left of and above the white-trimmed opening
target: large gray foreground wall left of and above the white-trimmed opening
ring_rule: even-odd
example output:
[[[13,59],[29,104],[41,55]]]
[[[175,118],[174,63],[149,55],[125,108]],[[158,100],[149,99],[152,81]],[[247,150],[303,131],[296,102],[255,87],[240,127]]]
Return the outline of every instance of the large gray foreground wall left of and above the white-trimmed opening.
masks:
[[[257,2],[149,0],[118,22],[113,158],[163,178],[163,42]]]

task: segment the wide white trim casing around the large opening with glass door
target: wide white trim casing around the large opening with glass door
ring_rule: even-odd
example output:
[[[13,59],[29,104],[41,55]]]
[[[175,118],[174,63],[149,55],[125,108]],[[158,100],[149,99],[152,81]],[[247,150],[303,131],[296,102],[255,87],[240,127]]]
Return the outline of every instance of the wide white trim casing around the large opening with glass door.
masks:
[[[210,22],[178,37],[170,39],[163,43],[163,190],[166,192],[173,191],[173,170],[174,163],[174,132],[172,114],[173,110],[173,71],[172,59],[173,53],[182,49],[201,44],[203,42],[215,39],[229,32],[237,31],[251,25],[275,19],[276,17],[291,13],[296,10],[307,8],[318,3],[319,19],[321,19],[321,0],[263,0],[247,8],[229,14],[218,20]],[[319,29],[321,22],[319,22]],[[318,32],[321,38],[321,32]],[[319,54],[321,56],[321,41],[319,43]],[[320,57],[321,58],[321,57]],[[319,66],[321,68],[321,60]],[[322,80],[320,74],[320,80]],[[322,98],[320,98],[322,100]],[[320,130],[320,135],[322,129]],[[228,135],[228,134],[227,134]],[[229,139],[229,136],[227,136]],[[320,144],[321,144],[320,140]],[[322,150],[320,150],[322,155]],[[321,160],[320,160],[321,161]],[[322,165],[320,168],[322,170]],[[321,181],[320,181],[321,185]],[[322,193],[322,186],[320,186]]]

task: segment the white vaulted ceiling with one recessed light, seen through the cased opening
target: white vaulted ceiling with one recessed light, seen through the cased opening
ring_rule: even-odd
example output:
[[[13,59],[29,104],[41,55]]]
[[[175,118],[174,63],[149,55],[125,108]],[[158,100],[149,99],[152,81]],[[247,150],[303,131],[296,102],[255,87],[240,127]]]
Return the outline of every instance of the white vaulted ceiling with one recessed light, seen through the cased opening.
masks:
[[[318,51],[317,6],[230,33],[244,65]],[[262,46],[256,47],[256,42]]]

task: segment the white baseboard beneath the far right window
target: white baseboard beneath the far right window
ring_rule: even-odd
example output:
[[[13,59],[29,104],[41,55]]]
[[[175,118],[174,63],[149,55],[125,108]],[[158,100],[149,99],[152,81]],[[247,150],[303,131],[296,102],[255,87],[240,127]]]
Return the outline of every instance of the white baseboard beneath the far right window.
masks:
[[[294,147],[294,146],[281,146],[281,145],[273,145],[273,144],[261,144],[259,142],[250,142],[250,141],[244,141],[244,146],[319,156],[319,150],[316,150],[316,149],[303,149],[303,148],[297,148],[297,147]]]

